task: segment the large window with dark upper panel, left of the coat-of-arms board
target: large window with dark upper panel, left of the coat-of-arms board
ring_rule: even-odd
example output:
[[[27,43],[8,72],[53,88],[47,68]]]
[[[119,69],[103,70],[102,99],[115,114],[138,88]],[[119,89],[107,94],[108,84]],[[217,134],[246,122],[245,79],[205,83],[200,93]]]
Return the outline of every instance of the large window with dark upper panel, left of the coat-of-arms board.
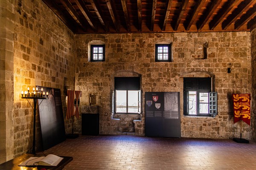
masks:
[[[140,77],[115,77],[115,113],[140,112]]]

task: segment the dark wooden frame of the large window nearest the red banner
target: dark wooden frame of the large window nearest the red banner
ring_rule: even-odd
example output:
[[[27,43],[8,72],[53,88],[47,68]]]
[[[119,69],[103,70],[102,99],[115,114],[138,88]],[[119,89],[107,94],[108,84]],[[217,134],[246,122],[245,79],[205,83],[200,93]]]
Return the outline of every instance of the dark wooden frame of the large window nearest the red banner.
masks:
[[[186,85],[187,82],[192,81],[192,87]],[[200,85],[200,82],[207,82],[207,85]],[[183,79],[183,96],[184,96],[184,115],[185,116],[212,116],[210,114],[210,100],[209,96],[212,93],[212,78],[211,77],[184,77]],[[209,83],[209,84],[208,84]],[[196,92],[196,114],[189,114],[189,91]],[[208,113],[200,113],[200,93],[208,93]]]

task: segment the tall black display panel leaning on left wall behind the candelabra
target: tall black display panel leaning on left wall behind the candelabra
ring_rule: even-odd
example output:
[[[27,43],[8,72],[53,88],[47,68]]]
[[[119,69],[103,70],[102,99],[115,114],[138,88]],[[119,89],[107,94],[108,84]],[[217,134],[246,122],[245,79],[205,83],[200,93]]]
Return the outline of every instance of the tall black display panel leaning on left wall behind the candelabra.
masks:
[[[61,102],[61,90],[58,88],[38,87],[44,89],[45,94],[48,92],[48,99],[38,99],[39,116],[41,123],[41,133],[43,149],[47,150],[66,140],[64,118]]]

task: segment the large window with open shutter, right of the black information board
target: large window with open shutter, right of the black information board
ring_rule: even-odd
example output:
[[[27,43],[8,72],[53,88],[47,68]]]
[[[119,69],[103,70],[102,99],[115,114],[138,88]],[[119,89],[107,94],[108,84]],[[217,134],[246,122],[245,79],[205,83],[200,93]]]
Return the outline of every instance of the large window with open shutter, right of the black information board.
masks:
[[[217,93],[211,92],[211,78],[184,78],[184,115],[215,116]]]

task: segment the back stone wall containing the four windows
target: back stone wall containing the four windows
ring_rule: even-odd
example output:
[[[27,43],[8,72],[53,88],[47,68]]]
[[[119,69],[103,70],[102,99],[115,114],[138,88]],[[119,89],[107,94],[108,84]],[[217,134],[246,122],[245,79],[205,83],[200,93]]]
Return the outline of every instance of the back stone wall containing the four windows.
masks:
[[[88,62],[88,48],[93,42],[105,44],[105,62]],[[156,43],[172,43],[173,62],[155,62]],[[206,47],[207,59],[197,59],[200,47]],[[76,81],[83,95],[81,105],[88,105],[89,95],[100,96],[100,133],[123,133],[121,126],[135,123],[135,133],[145,134],[145,100],[147,91],[180,92],[181,136],[233,138],[240,135],[240,124],[233,123],[231,94],[251,93],[250,32],[164,33],[164,34],[84,34],[76,35]],[[203,57],[204,58],[204,57]],[[231,73],[227,73],[231,68]],[[118,72],[141,75],[143,114],[133,121],[113,119],[111,94]],[[215,78],[218,92],[218,115],[183,116],[183,77]],[[124,115],[122,115],[124,116]],[[119,117],[118,117],[119,118]],[[252,139],[252,130],[243,124],[243,137]]]

